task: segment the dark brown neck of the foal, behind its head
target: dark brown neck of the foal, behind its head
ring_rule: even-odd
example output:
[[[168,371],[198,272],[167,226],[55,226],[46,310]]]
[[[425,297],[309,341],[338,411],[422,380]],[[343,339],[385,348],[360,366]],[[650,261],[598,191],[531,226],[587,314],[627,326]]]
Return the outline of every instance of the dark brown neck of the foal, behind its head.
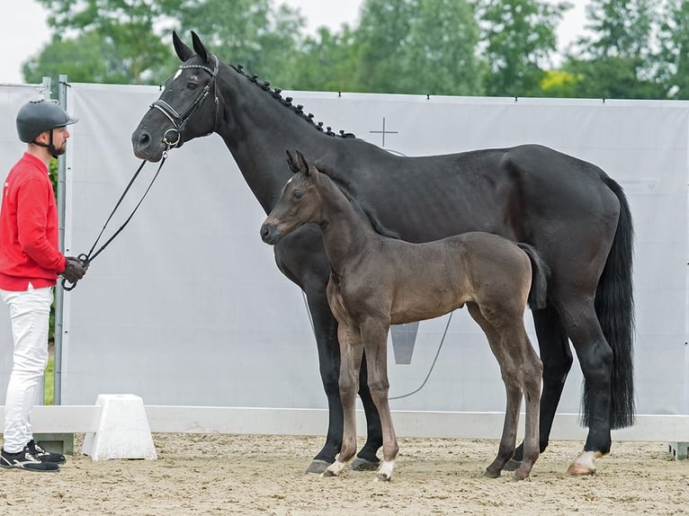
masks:
[[[342,272],[352,257],[371,245],[371,240],[382,238],[366,220],[362,211],[339,190],[336,184],[322,178],[320,187],[322,207],[320,229],[327,259],[334,271]]]

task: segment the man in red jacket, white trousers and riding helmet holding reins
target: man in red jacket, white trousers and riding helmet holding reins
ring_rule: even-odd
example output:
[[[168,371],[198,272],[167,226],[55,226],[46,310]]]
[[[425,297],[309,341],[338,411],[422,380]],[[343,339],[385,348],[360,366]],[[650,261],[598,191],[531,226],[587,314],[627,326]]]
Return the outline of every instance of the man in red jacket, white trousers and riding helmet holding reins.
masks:
[[[0,296],[10,309],[13,368],[4,404],[0,467],[58,471],[64,455],[33,440],[31,408],[48,364],[48,329],[58,276],[74,283],[85,264],[58,247],[58,209],[50,182],[50,159],[65,153],[76,122],[58,104],[28,102],[17,113],[26,152],[4,181],[0,209]]]

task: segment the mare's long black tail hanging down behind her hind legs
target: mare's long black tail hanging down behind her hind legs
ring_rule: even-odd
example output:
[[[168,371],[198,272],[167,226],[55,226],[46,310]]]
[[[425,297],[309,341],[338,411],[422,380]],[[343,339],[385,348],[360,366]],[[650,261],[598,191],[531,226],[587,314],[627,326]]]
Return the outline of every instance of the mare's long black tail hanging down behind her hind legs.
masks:
[[[604,182],[620,200],[620,218],[613,247],[595,291],[595,314],[605,340],[613,348],[610,422],[614,429],[634,423],[634,298],[631,285],[634,230],[622,187],[607,176],[604,176]],[[588,388],[585,388],[582,399],[585,425],[589,424],[590,413],[587,393]]]

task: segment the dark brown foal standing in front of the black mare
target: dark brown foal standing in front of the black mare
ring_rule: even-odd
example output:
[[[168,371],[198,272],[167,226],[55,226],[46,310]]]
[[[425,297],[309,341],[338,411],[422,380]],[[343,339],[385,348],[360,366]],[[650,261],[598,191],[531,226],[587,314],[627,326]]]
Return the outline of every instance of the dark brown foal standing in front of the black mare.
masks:
[[[486,475],[499,476],[515,453],[524,396],[523,460],[515,478],[527,478],[539,456],[542,367],[523,316],[527,301],[535,307],[545,305],[547,266],[529,245],[489,233],[466,233],[425,244],[380,235],[351,197],[299,151],[297,156],[296,162],[290,156],[296,173],[265,219],[261,236],[274,245],[297,227],[316,223],[331,265],[327,299],[338,323],[345,426],[340,453],[324,475],[339,475],[356,452],[355,402],[365,351],[368,386],[383,432],[383,462],[377,478],[390,479],[398,441],[388,402],[389,326],[442,316],[466,304],[488,337],[507,395],[500,446]]]

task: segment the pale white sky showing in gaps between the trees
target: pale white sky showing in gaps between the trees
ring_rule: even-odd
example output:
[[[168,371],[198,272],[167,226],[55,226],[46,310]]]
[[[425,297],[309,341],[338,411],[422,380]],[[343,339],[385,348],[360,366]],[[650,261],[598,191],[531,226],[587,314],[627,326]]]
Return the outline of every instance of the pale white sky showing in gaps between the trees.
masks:
[[[342,23],[353,24],[359,15],[362,0],[274,0],[276,4],[298,7],[307,19],[307,29],[315,32],[323,25],[338,30]],[[560,49],[583,31],[586,0],[570,0],[574,8],[560,23]],[[22,63],[39,52],[49,40],[47,12],[35,0],[3,0],[4,14],[0,20],[0,49],[5,64],[0,83],[22,83]]]

